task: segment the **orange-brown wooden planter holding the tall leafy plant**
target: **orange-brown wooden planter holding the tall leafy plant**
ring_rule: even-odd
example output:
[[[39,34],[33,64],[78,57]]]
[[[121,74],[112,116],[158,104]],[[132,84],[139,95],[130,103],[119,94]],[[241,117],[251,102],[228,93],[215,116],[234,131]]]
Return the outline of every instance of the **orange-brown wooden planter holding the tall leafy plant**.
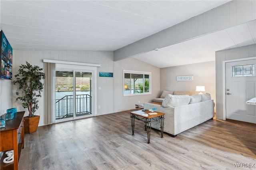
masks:
[[[36,132],[38,124],[39,124],[40,116],[34,117],[24,117],[24,132],[25,133],[33,133]]]

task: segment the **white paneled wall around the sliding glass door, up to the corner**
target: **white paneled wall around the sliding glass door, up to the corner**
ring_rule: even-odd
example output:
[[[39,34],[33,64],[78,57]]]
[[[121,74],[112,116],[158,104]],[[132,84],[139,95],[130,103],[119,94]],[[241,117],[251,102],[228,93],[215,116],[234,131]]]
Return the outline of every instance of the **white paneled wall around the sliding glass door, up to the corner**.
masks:
[[[99,77],[99,71],[114,72],[114,61],[113,51],[30,51],[30,50],[13,50],[13,73],[14,75],[18,72],[20,64],[25,64],[28,61],[32,65],[38,65],[44,67],[43,59],[61,60],[61,61],[72,61],[80,63],[93,63],[100,64],[101,67],[97,69],[97,84],[101,87],[97,93],[97,105],[100,105],[100,109],[97,110],[97,115],[114,112],[114,79],[113,77]],[[2,85],[2,84],[1,84]],[[2,87],[1,87],[2,90]],[[17,107],[18,111],[24,109],[17,102],[16,99],[16,87],[12,90],[13,95],[13,107]],[[3,105],[6,105],[6,100],[1,100]],[[2,104],[1,103],[1,104]],[[39,109],[35,113],[40,115],[39,126],[44,125],[44,93],[39,99]],[[28,115],[28,111],[26,111]],[[25,116],[26,116],[25,115]]]

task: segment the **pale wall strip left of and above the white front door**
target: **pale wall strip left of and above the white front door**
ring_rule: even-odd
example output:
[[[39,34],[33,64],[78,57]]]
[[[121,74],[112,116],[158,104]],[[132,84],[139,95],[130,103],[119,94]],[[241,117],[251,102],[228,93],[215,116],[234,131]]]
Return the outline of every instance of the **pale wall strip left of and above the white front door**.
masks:
[[[216,57],[216,118],[217,119],[226,119],[223,116],[223,61],[232,60],[232,59],[242,59],[248,57],[256,57],[256,44],[246,45],[244,47],[232,48],[222,51],[215,52]]]

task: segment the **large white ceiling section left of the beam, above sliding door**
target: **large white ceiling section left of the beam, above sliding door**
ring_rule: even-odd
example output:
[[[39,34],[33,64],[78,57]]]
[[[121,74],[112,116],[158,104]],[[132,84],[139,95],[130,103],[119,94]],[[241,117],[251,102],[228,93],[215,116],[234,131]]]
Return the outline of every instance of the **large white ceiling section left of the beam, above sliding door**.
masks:
[[[53,36],[53,40],[60,39],[55,43],[60,42],[66,34],[71,34],[81,44],[77,48],[86,50],[87,48],[82,45],[86,39],[80,38],[82,34],[89,35],[88,39],[98,41],[94,49],[106,50],[106,48],[101,48],[103,40],[104,43],[111,44],[111,48],[107,50],[114,51],[226,2],[228,0],[216,1],[214,5],[209,5],[204,1],[175,0],[1,0],[0,24],[6,36],[12,37],[10,43],[13,43],[14,49],[18,48],[14,44],[19,44],[16,42],[19,38],[14,38],[12,34],[20,33],[24,38],[34,37],[33,34],[47,34],[47,36]],[[97,40],[99,35],[102,38]],[[35,43],[38,41],[40,40]],[[24,44],[25,49],[33,49],[32,44],[28,44],[27,47]],[[59,45],[56,44],[56,46]],[[102,47],[104,46],[108,45]],[[63,47],[63,50],[67,48]]]

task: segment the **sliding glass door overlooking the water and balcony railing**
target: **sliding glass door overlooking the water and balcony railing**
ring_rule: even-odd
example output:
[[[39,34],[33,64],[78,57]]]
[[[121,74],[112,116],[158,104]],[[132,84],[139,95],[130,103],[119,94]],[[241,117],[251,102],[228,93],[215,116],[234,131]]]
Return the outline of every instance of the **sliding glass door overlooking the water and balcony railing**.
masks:
[[[92,115],[92,71],[56,69],[56,122]]]

